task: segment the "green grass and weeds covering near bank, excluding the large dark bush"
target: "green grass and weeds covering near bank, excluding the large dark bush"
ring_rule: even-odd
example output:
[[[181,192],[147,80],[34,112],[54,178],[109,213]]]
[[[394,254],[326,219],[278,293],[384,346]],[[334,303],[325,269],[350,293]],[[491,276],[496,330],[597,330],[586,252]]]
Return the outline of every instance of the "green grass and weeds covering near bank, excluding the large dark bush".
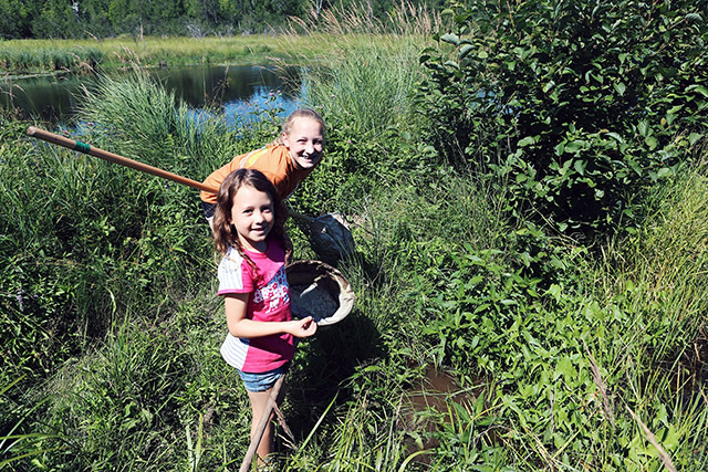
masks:
[[[279,440],[279,470],[705,470],[705,166],[653,189],[637,231],[584,248],[512,219],[503,185],[427,157],[405,98],[415,41],[308,41],[325,33],[341,66],[308,78],[326,157],[292,204],[352,221],[356,253],[337,266],[356,305],[299,347],[283,406],[296,449]],[[200,180],[277,132],[268,111],[252,129],[216,111],[195,123],[132,66],[80,98],[83,140]],[[396,113],[376,106],[394,96]],[[237,470],[248,398],[218,353],[197,192],[0,119],[0,464]],[[410,412],[430,368],[465,401]]]

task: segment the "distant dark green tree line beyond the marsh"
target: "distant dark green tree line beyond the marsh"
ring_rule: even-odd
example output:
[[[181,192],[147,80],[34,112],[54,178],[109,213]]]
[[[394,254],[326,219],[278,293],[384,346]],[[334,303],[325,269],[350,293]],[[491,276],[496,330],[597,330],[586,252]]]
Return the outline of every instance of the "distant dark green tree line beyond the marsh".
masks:
[[[0,0],[0,36],[250,34],[334,8],[383,19],[402,1],[437,9],[445,0]]]

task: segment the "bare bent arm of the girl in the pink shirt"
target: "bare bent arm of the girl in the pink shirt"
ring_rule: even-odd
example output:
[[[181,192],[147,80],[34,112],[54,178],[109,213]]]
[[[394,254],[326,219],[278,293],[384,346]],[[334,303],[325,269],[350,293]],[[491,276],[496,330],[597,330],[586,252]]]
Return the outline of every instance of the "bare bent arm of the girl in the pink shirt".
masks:
[[[272,323],[249,319],[246,317],[249,296],[249,293],[233,293],[223,297],[226,323],[232,336],[250,338],[288,333],[296,337],[308,337],[317,331],[317,324],[312,319],[312,316],[291,322]]]

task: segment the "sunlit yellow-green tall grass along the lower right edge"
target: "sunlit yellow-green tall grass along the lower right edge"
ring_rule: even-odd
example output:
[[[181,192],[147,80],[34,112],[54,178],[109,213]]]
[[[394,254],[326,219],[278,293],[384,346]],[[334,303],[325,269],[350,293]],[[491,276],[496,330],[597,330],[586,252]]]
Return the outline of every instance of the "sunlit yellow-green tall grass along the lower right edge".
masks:
[[[627,384],[622,402],[639,418],[644,413],[643,421],[666,441],[677,469],[700,470],[708,460],[696,443],[706,438],[695,436],[706,431],[708,400],[702,367],[690,359],[705,349],[708,322],[708,180],[702,166],[677,179],[662,197],[650,223],[631,241],[632,249],[611,248],[607,254],[623,263],[610,271],[611,285],[604,286],[634,318],[623,333],[625,346],[610,361],[617,366],[614,375]],[[638,436],[637,448],[653,449],[648,433]]]

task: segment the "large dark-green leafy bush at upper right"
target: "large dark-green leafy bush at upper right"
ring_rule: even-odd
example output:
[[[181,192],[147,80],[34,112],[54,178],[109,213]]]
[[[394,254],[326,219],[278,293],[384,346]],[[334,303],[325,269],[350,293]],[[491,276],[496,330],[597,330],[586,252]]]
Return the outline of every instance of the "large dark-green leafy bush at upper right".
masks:
[[[517,216],[584,233],[634,224],[637,197],[706,132],[702,6],[454,2],[421,55],[429,140],[509,186]]]

